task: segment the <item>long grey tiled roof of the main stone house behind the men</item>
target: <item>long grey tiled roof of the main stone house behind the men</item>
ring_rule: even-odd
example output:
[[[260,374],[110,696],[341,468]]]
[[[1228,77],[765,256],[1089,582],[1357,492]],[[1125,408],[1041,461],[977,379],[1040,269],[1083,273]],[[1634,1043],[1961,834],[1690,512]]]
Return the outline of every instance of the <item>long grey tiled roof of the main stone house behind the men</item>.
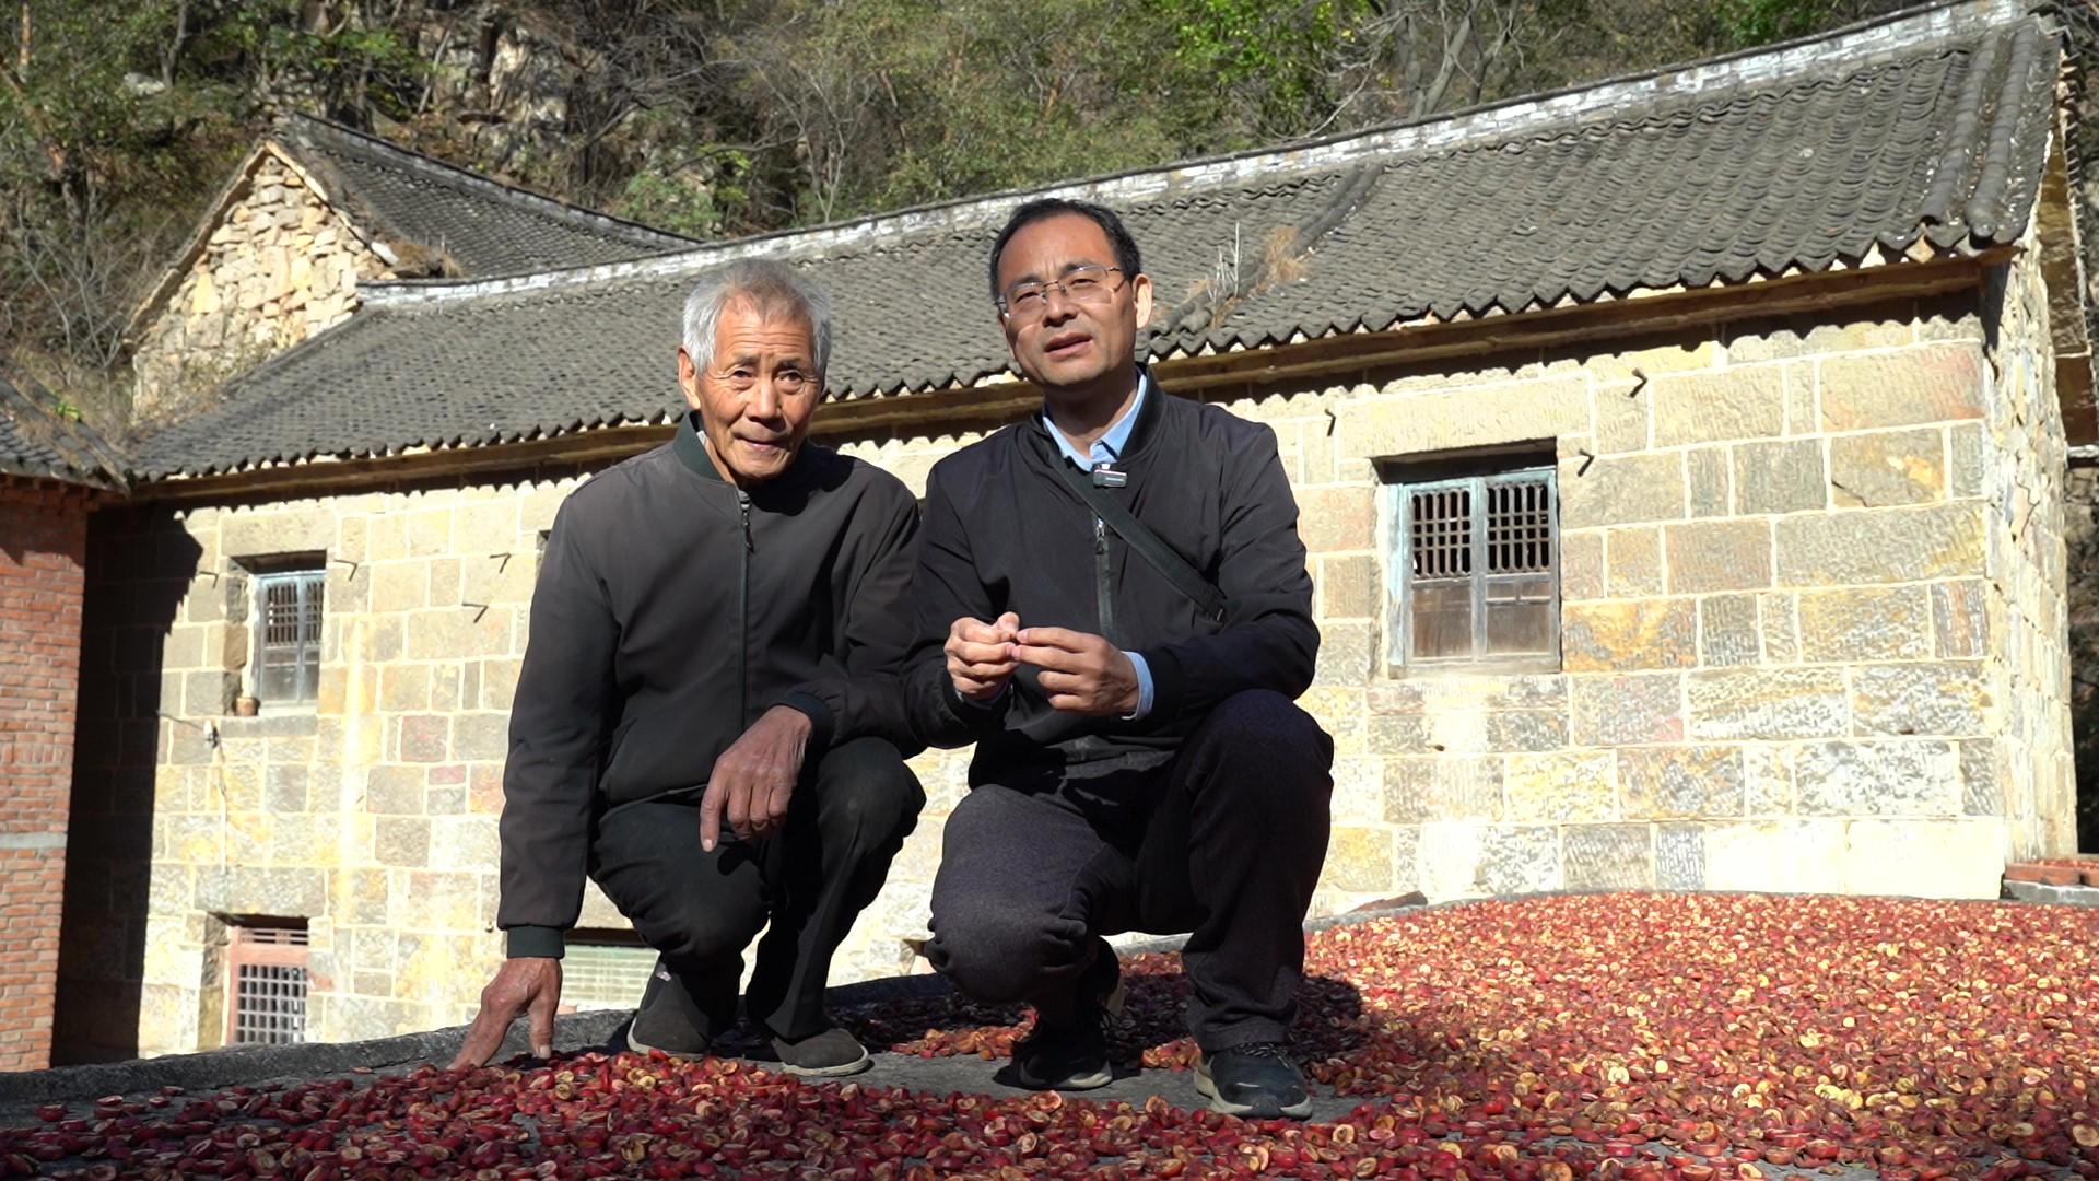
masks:
[[[1060,185],[1125,212],[1154,357],[1606,292],[1744,282],[2015,242],[2057,44],[2017,0],[1268,153]],[[682,408],[693,275],[766,254],[838,305],[833,397],[995,380],[984,256],[1035,193],[508,282],[372,288],[365,311],[229,385],[141,452],[149,477],[485,446]],[[1270,265],[1280,258],[1280,265]]]

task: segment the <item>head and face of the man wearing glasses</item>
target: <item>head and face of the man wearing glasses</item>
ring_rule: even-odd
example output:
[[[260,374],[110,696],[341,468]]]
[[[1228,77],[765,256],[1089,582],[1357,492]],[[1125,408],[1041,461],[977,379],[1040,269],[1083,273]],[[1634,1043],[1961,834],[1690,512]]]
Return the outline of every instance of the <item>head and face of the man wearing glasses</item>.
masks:
[[[999,254],[999,292],[1066,279],[1081,267],[1112,269],[1115,248],[1094,219],[1056,214],[1020,227]],[[1098,271],[1081,271],[1096,275]],[[1045,393],[1127,380],[1136,364],[1138,328],[1152,315],[1152,279],[1106,275],[1112,290],[1098,303],[1047,288],[1035,309],[999,315],[1005,347],[1020,372]],[[1022,301],[1031,303],[1031,301]]]

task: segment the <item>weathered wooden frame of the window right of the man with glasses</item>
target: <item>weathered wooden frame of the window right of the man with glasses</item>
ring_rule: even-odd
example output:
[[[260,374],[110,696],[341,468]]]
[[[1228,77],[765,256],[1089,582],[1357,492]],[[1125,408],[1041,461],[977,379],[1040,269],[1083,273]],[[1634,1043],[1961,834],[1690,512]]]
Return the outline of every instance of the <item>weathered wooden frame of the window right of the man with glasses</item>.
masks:
[[[1560,628],[1560,473],[1551,454],[1518,452],[1492,454],[1459,460],[1438,460],[1425,464],[1385,464],[1385,553],[1392,559],[1385,595],[1385,670],[1392,677],[1436,675],[1436,672],[1557,672],[1562,651]],[[1549,569],[1520,574],[1494,574],[1488,561],[1488,530],[1492,525],[1488,490],[1520,483],[1543,483],[1547,511]],[[1421,658],[1415,656],[1415,542],[1413,504],[1419,494],[1463,492],[1469,494],[1467,521],[1467,569],[1471,584],[1471,651],[1461,656]],[[1497,582],[1509,584],[1518,578],[1549,574],[1549,647],[1536,654],[1490,656],[1488,647],[1488,588]],[[1455,578],[1450,580],[1455,582]]]

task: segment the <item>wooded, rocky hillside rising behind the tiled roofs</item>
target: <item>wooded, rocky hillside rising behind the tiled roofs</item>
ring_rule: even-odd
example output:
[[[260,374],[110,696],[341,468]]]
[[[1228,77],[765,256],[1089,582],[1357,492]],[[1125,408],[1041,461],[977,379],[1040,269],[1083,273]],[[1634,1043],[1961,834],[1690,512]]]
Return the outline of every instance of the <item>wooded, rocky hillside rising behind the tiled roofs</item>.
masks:
[[[0,59],[0,351],[111,368],[283,109],[720,237],[1427,118],[1900,2],[0,0],[27,29]]]

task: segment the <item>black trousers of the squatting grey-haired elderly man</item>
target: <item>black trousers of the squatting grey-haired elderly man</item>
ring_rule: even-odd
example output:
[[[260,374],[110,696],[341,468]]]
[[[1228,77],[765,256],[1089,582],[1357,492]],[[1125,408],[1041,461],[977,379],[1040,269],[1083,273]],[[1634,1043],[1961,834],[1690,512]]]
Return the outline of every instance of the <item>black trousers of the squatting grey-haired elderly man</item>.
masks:
[[[697,801],[640,801],[598,822],[592,878],[663,956],[707,1038],[737,1019],[743,948],[758,944],[745,1013],[775,1036],[825,1030],[831,952],[875,899],[926,792],[896,748],[858,738],[804,767],[781,832],[699,847]]]

